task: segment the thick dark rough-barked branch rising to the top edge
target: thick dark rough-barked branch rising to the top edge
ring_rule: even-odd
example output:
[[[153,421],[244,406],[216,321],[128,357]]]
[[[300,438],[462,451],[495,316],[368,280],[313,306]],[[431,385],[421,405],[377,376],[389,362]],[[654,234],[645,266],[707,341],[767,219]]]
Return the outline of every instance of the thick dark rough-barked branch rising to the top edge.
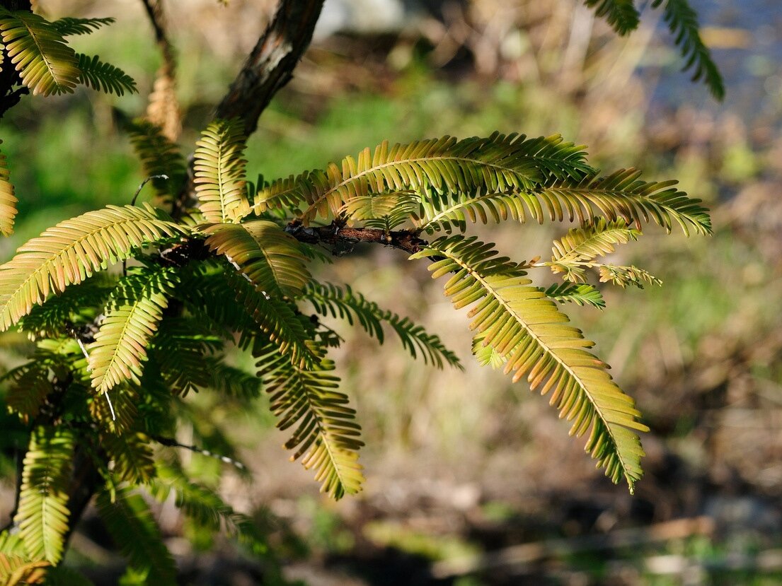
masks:
[[[242,70],[215,112],[216,118],[239,118],[244,134],[253,134],[271,98],[293,77],[307,50],[324,0],[281,0],[274,20],[250,52]]]

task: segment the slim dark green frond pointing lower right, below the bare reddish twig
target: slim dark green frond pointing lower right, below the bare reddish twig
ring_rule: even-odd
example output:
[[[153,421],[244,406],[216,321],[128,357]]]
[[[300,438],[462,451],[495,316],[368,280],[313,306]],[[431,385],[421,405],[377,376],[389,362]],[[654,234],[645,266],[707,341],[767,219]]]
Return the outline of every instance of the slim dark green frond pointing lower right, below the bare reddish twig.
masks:
[[[458,357],[443,345],[438,336],[428,334],[423,327],[414,324],[407,317],[400,317],[388,309],[380,309],[377,303],[353,291],[350,285],[338,287],[331,283],[311,281],[303,298],[312,303],[315,311],[322,316],[339,317],[347,320],[351,326],[355,318],[364,331],[377,338],[381,344],[384,340],[382,323],[388,323],[413,358],[418,358],[420,353],[425,363],[432,363],[437,368],[443,368],[444,363],[462,368]]]

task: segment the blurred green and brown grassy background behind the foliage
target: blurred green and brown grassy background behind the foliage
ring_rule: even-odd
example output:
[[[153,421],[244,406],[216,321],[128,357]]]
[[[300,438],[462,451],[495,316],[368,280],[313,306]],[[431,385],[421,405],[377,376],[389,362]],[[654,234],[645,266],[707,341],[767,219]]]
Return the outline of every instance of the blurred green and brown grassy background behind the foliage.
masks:
[[[638,166],[648,180],[679,179],[712,210],[715,234],[687,239],[648,227],[617,256],[662,288],[604,287],[604,311],[565,308],[651,427],[634,496],[594,470],[547,399],[472,360],[465,316],[425,267],[377,247],[325,266],[322,279],[350,283],[439,334],[466,370],[413,363],[393,339],[378,347],[332,324],[346,338],[333,357],[367,442],[366,488],[340,502],[287,461],[265,402],[235,413],[206,394],[190,398],[208,414],[205,425],[229,429],[241,447],[251,477],[229,470],[220,488],[267,528],[282,579],[782,583],[782,7],[691,3],[726,77],[723,103],[680,73],[656,11],[644,10],[640,29],[618,38],[576,0],[327,0],[296,77],[249,141],[250,177],[323,167],[383,139],[561,133],[588,145],[603,170]],[[140,92],[25,98],[5,116],[2,148],[21,201],[16,234],[0,241],[2,261],[59,220],[130,202],[143,176],[122,123],[144,112],[160,66],[140,2],[38,7],[50,17],[117,17],[73,42],[122,67]],[[272,0],[167,3],[185,152],[273,9]],[[545,257],[566,229],[475,231],[529,259]],[[0,350],[5,366],[19,360]],[[2,466],[5,518],[13,463]],[[217,464],[192,456],[191,466],[209,477]],[[185,583],[272,583],[264,561],[188,534],[173,504],[158,518]],[[88,521],[67,562],[111,584],[121,559]],[[199,549],[207,545],[215,548]]]

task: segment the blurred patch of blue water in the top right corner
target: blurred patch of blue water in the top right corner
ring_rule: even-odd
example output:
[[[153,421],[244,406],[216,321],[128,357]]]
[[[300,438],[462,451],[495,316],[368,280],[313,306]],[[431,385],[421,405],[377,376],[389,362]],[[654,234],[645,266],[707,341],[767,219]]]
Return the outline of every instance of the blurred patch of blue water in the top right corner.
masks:
[[[722,104],[702,84],[689,83],[677,56],[665,66],[652,99],[653,108],[691,104],[719,114],[739,113],[754,123],[782,124],[782,0],[691,0],[701,27],[744,30],[745,47],[712,47],[712,57],[723,73],[726,97]],[[673,48],[667,25],[658,25],[660,38]],[[719,43],[717,43],[719,45]],[[673,50],[673,49],[672,49]],[[641,70],[643,74],[643,70]]]

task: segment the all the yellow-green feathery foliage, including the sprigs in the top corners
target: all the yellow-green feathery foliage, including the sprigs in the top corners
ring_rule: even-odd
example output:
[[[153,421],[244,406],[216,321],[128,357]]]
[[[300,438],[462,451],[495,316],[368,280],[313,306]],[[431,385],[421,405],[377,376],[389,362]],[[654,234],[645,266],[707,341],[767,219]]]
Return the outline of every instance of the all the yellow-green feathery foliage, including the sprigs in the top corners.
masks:
[[[586,3],[619,34],[637,27],[633,2]],[[694,13],[683,0],[664,9],[688,66],[718,95],[719,73]],[[0,9],[2,66],[16,67],[21,88],[33,94],[66,93],[79,83],[135,91],[122,70],[77,55],[66,42],[111,22],[49,22]],[[29,440],[13,523],[0,532],[2,584],[36,583],[47,574],[74,579],[58,564],[83,512],[74,504],[76,468],[88,471],[88,499],[96,498],[128,559],[128,580],[176,581],[143,491],[161,500],[174,494],[195,526],[265,551],[249,518],[192,481],[179,452],[168,449],[199,450],[244,467],[230,442],[203,429],[191,392],[210,391],[237,406],[266,392],[278,427],[289,433],[285,448],[314,470],[321,490],[334,498],[361,491],[361,427],[328,358],[342,338],[323,318],[361,327],[381,344],[393,334],[412,357],[438,368],[461,363],[435,334],[350,284],[317,279],[329,252],[359,242],[425,263],[454,308],[469,309],[479,363],[548,395],[570,433],[586,438],[597,466],[633,491],[644,456],[638,434],[647,427],[560,306],[603,308],[590,281],[659,284],[604,257],[650,224],[710,234],[698,199],[676,181],[643,180],[638,170],[601,173],[583,147],[559,136],[500,133],[384,141],[321,170],[253,184],[246,127],[237,118],[213,120],[195,144],[188,184],[179,146],[155,123],[133,123],[131,141],[154,181],[155,205],[134,198],[65,220],[0,266],[0,331],[15,328],[34,343],[30,361],[4,377],[6,407]],[[15,203],[0,156],[3,234],[13,230]],[[465,234],[475,223],[502,222],[569,228],[554,241],[550,260],[531,262]],[[224,361],[231,346],[253,357],[255,373]],[[171,439],[183,422],[204,448]]]

